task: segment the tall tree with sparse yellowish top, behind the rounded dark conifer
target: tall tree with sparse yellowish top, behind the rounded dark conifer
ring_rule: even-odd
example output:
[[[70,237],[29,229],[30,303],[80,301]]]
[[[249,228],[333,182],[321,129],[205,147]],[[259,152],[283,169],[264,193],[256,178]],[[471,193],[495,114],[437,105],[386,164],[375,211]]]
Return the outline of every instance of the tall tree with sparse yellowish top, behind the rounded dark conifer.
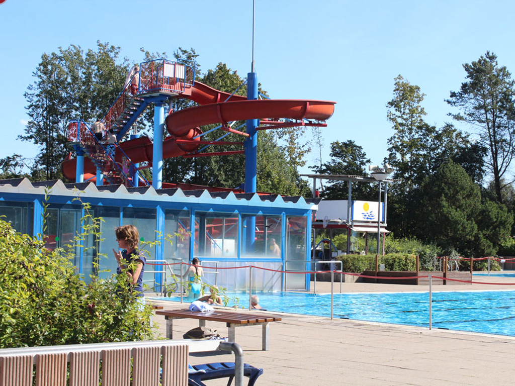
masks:
[[[390,184],[389,226],[398,237],[408,237],[418,221],[413,208],[418,205],[418,189],[426,176],[452,160],[481,183],[486,149],[450,124],[441,129],[428,125],[421,107],[424,94],[400,75],[395,79],[393,94],[387,103],[387,117],[394,130],[388,139],[388,162],[394,167],[393,176],[401,181]]]

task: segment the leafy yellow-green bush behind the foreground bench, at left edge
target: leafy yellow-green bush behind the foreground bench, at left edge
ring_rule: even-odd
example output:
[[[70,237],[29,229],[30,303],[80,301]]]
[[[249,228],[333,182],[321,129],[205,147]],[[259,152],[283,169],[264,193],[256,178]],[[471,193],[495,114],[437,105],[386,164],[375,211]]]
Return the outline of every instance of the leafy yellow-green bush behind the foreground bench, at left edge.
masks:
[[[128,280],[86,284],[64,250],[0,220],[0,348],[152,339],[152,310],[120,290]]]

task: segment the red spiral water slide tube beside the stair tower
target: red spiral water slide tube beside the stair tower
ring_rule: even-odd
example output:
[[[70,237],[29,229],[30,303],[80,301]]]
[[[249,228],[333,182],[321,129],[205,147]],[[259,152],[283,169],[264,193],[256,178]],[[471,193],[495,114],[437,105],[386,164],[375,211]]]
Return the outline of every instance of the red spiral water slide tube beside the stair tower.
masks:
[[[184,95],[201,106],[192,107],[169,114],[165,119],[170,134],[163,142],[163,159],[177,157],[194,151],[197,144],[178,142],[178,139],[200,141],[195,136],[202,133],[199,126],[225,124],[233,120],[247,119],[315,119],[326,120],[333,115],[336,102],[320,100],[247,100],[240,95],[232,95],[195,82],[191,95]],[[188,92],[189,94],[189,92]],[[230,102],[225,102],[230,97]],[[119,143],[133,163],[151,162],[153,144],[148,137],[141,137]],[[122,161],[122,153],[116,152],[117,162]],[[63,163],[64,175],[75,179],[76,159]],[[84,160],[84,173],[94,174],[96,167],[90,159]]]

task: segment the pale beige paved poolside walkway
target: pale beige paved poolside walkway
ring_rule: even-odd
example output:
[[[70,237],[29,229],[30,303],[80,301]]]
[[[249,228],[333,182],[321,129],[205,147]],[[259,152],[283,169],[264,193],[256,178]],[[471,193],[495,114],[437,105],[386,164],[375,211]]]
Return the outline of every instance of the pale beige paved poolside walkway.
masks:
[[[478,283],[515,283],[514,278],[474,277]],[[344,283],[344,292],[428,291],[428,287]],[[434,290],[515,290],[507,285],[434,286]],[[330,292],[317,283],[317,292]],[[339,283],[335,285],[339,292]],[[151,300],[151,298],[149,298]],[[165,308],[177,304],[156,302]],[[182,307],[186,307],[183,305]],[[255,311],[253,311],[255,312]],[[515,316],[515,315],[510,315]],[[244,360],[262,367],[257,385],[511,385],[515,337],[281,314],[270,324],[270,350],[261,350],[261,326],[236,329]],[[155,317],[162,336],[165,323]],[[515,323],[515,321],[514,321]],[[223,323],[208,322],[221,336]],[[181,337],[196,320],[174,321]],[[191,357],[191,363],[234,361],[233,354]],[[227,381],[209,381],[214,386]]]

